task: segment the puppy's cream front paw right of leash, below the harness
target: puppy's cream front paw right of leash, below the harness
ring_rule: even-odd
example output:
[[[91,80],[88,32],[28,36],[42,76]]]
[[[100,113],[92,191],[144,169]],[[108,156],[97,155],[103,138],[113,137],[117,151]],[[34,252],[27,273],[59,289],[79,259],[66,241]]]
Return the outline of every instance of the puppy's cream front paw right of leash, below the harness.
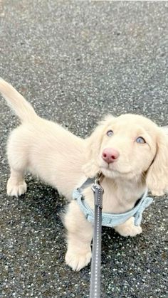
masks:
[[[129,218],[125,223],[122,223],[122,225],[117,225],[115,230],[124,237],[134,237],[137,234],[142,233],[142,228],[140,226],[135,226],[133,217]]]

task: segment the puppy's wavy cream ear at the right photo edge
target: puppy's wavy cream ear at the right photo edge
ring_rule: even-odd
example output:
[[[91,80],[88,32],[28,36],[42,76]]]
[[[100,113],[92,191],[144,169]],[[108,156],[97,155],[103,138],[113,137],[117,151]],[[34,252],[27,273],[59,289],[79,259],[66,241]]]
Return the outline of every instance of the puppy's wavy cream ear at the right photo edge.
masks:
[[[147,187],[154,196],[162,196],[168,190],[168,137],[159,129],[157,153],[147,171]]]

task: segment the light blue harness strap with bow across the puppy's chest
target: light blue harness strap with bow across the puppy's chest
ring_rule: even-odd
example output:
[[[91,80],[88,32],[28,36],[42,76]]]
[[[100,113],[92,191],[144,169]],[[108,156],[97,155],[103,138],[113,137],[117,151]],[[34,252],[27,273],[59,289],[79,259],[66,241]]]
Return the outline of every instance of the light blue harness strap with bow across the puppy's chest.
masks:
[[[81,188],[75,189],[73,191],[73,199],[78,202],[80,206],[80,210],[84,213],[85,218],[94,223],[94,212],[85,202],[83,198],[83,194],[81,193]],[[140,198],[137,205],[132,208],[130,211],[125,213],[102,213],[102,225],[107,227],[115,227],[116,225],[121,225],[125,223],[130,217],[134,216],[135,220],[134,223],[136,226],[140,225],[142,220],[142,213],[145,209],[152,203],[153,199],[147,197],[147,191],[145,191],[144,195]]]

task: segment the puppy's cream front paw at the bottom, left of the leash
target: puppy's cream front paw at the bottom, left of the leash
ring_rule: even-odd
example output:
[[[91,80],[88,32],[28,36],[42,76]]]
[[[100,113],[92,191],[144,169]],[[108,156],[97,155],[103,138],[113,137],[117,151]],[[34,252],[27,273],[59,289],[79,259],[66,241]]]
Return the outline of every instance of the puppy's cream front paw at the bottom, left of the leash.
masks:
[[[88,252],[79,253],[79,252],[72,252],[67,251],[65,255],[65,262],[67,265],[69,265],[74,271],[79,271],[88,263],[90,262],[92,257],[91,250],[88,250]]]

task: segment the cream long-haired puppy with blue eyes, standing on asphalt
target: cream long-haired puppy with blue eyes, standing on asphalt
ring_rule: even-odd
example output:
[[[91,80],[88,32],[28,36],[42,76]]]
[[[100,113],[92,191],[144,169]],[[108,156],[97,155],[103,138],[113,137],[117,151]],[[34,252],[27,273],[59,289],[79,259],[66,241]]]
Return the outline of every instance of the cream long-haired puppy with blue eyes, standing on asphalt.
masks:
[[[168,140],[163,129],[139,115],[107,116],[88,139],[80,139],[58,124],[41,119],[14,87],[0,80],[0,92],[21,119],[9,137],[9,196],[26,192],[25,171],[38,175],[70,201],[73,189],[98,171],[104,175],[103,212],[122,213],[135,206],[146,188],[156,196],[168,185]],[[90,186],[83,191],[93,208]],[[73,270],[88,265],[93,225],[78,203],[71,201],[64,218],[68,230],[66,263]],[[130,218],[115,227],[120,235],[142,232]]]

